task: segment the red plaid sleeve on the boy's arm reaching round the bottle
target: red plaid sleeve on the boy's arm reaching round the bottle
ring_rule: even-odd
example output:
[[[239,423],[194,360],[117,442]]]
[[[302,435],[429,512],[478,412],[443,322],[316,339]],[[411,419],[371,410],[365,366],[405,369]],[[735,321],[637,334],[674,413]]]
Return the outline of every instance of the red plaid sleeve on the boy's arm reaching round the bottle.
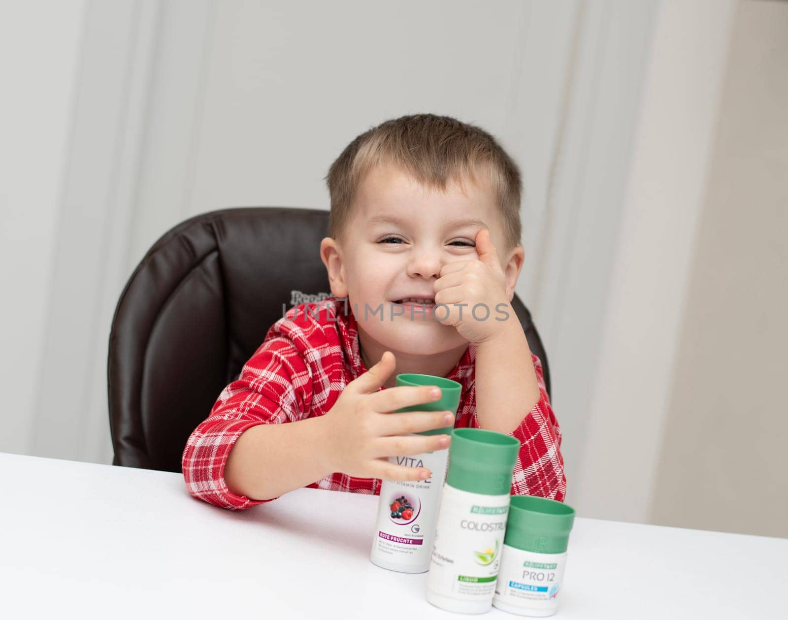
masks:
[[[182,465],[188,492],[215,506],[242,510],[273,499],[255,500],[232,493],[225,483],[225,463],[233,444],[258,424],[280,424],[308,417],[312,377],[303,354],[284,332],[283,322],[243,366],[240,377],[219,395],[210,415],[187,441]],[[288,324],[292,325],[292,324]]]

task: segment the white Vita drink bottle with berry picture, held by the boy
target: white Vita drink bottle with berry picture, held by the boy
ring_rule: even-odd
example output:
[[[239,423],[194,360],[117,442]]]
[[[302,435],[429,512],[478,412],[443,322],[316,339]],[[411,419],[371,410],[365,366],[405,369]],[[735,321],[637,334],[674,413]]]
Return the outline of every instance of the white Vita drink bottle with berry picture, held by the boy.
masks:
[[[444,377],[414,373],[397,375],[396,385],[437,385],[441,390],[439,400],[400,411],[456,412],[463,388],[456,381]],[[451,434],[452,429],[452,426],[448,426],[418,434]],[[429,569],[433,549],[440,494],[446,477],[448,448],[415,456],[392,457],[388,460],[398,465],[426,467],[432,475],[424,481],[382,482],[370,559],[377,566],[388,570],[424,573]]]

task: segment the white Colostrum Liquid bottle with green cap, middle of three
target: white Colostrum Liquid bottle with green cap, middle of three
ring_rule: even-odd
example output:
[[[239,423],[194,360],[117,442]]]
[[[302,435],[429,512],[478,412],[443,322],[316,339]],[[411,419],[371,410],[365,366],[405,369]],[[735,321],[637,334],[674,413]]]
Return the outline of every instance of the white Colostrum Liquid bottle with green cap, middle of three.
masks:
[[[427,576],[436,607],[465,614],[492,607],[519,447],[503,433],[455,429]]]

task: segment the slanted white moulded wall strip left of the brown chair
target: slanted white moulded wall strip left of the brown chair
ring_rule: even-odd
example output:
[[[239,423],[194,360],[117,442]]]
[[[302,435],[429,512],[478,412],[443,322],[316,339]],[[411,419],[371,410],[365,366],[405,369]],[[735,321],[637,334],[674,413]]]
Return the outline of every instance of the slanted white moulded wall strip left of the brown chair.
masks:
[[[131,272],[139,161],[158,2],[90,2],[70,118],[50,299],[43,387],[31,412],[30,451],[109,462],[106,398],[110,322]]]

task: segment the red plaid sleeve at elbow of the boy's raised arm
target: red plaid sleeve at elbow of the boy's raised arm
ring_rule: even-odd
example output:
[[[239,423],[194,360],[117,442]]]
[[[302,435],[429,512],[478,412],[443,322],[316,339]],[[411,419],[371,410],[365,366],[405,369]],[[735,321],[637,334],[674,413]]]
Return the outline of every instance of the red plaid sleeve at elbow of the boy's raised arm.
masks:
[[[567,495],[567,477],[563,473],[560,450],[561,429],[550,406],[541,361],[533,354],[531,358],[537,374],[539,400],[519,426],[509,433],[520,442],[515,473],[511,479],[511,493],[548,497],[563,502]],[[470,426],[481,428],[475,413],[470,418]]]

